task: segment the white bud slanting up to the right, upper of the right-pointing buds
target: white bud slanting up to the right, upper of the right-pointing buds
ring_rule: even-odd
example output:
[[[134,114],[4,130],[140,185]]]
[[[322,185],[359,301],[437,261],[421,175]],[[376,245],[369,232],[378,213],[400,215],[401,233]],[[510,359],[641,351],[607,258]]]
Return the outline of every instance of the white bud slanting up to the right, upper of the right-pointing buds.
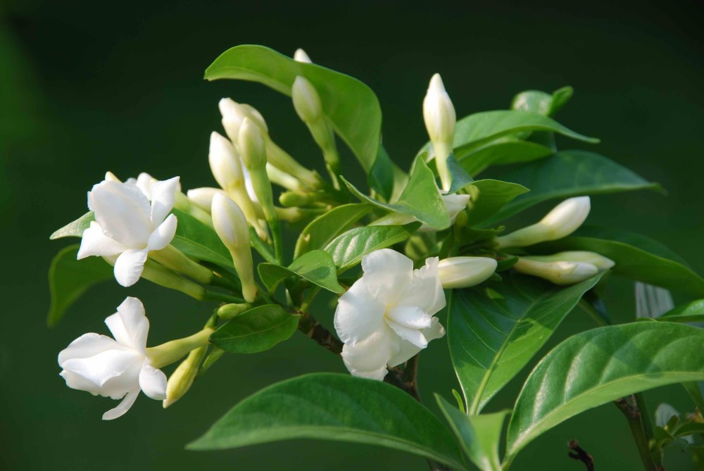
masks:
[[[553,208],[540,222],[497,237],[497,249],[504,247],[524,247],[539,242],[562,239],[579,229],[589,215],[591,202],[589,196],[579,196],[562,201]]]

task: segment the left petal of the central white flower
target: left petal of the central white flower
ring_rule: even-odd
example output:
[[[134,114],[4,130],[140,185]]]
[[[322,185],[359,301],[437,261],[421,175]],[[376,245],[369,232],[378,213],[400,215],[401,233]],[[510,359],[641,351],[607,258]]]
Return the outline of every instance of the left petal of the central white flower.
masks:
[[[370,337],[384,322],[384,305],[370,296],[365,280],[357,280],[340,296],[335,310],[335,331],[344,343]]]

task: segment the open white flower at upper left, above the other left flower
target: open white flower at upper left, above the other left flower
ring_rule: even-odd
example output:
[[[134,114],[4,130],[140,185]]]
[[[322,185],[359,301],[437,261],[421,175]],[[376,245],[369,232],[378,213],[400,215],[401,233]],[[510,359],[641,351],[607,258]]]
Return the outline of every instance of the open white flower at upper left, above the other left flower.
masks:
[[[78,259],[116,257],[115,280],[132,286],[142,275],[149,251],[165,248],[174,238],[177,220],[169,213],[178,187],[179,177],[149,182],[150,203],[134,182],[105,180],[94,185],[88,207],[95,220],[83,232]]]

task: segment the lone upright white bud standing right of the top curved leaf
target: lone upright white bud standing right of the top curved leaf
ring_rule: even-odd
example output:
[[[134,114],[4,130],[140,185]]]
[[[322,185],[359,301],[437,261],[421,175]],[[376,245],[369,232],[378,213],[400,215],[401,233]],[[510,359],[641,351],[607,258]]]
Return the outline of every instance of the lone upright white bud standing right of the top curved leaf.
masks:
[[[439,74],[430,79],[428,92],[423,99],[423,119],[425,128],[433,144],[438,174],[442,189],[448,191],[451,185],[451,175],[447,168],[447,158],[452,153],[455,137],[455,107]]]

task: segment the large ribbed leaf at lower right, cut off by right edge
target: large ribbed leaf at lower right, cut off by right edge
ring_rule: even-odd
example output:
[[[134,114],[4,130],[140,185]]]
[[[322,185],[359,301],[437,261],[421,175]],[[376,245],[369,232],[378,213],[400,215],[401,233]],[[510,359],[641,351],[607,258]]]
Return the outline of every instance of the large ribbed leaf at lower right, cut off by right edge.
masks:
[[[634,322],[573,335],[525,382],[508,425],[508,456],[548,429],[617,398],[704,379],[704,330]]]

